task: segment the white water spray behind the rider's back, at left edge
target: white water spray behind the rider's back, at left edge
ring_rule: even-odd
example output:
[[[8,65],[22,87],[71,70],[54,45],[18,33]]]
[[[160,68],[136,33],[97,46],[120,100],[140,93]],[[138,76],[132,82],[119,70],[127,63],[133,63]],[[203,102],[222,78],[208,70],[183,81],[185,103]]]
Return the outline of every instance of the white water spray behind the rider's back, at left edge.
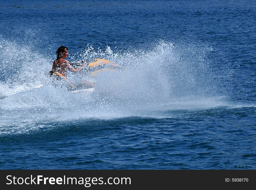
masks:
[[[0,37],[0,96],[25,92],[45,84],[49,61],[28,45]]]

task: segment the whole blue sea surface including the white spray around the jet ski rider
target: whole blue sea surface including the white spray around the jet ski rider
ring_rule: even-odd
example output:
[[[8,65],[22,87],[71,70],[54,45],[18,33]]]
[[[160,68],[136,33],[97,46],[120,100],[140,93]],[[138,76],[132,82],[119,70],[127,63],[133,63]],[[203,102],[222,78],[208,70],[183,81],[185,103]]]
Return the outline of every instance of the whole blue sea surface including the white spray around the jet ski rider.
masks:
[[[256,169],[255,10],[253,0],[1,1],[0,169]],[[125,69],[99,74],[93,93],[56,88],[61,45],[70,62]]]

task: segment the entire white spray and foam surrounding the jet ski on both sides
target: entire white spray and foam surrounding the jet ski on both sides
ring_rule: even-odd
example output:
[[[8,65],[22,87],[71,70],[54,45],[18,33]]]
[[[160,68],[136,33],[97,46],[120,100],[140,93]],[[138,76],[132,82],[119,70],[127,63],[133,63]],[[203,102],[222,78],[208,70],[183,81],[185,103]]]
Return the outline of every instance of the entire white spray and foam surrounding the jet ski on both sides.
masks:
[[[52,60],[39,59],[29,46],[18,46],[1,40],[1,94],[8,96],[1,100],[3,110],[32,115],[43,110],[45,119],[55,120],[147,116],[154,111],[223,106],[228,94],[229,71],[211,58],[216,50],[207,44],[160,41],[148,49],[88,45],[70,60],[104,58],[122,67],[97,74],[92,94],[53,87],[48,75]],[[73,78],[80,80],[82,75]],[[36,88],[39,85],[43,87]]]

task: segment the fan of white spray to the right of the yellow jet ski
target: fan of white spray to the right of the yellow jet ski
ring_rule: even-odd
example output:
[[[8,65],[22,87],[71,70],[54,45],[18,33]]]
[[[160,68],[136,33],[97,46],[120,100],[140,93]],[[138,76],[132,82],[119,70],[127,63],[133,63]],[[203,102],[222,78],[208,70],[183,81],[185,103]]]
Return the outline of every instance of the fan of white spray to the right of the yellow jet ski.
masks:
[[[96,98],[114,99],[130,110],[215,107],[228,96],[229,69],[207,59],[212,47],[159,42],[149,50],[109,53],[124,70],[97,78]],[[217,68],[216,68],[217,67]]]

